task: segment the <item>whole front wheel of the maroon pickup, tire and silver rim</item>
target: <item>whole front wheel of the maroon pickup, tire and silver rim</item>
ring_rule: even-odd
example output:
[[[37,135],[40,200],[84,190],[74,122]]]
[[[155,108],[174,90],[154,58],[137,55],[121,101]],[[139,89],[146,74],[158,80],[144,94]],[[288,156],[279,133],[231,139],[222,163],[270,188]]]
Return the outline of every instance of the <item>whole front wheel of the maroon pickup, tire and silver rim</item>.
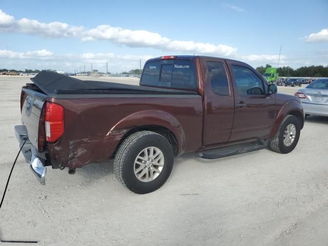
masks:
[[[269,142],[270,149],[282,154],[293,151],[297,145],[300,132],[298,118],[294,115],[287,115],[283,119],[277,134]]]

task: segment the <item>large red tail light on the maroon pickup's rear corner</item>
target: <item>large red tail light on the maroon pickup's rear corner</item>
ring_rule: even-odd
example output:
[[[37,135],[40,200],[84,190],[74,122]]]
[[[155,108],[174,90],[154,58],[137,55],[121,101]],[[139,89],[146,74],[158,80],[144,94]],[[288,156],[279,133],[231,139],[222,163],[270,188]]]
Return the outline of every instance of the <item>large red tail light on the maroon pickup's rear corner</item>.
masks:
[[[64,133],[64,108],[55,103],[46,103],[46,140],[54,142]]]

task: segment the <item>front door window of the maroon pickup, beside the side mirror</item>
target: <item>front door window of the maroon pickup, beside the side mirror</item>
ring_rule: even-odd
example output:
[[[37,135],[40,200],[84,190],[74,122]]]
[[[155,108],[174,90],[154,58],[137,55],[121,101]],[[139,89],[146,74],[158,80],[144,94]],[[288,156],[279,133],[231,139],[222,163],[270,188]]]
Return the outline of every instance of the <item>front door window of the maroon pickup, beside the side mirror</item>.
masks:
[[[262,80],[249,68],[233,65],[239,95],[264,95]]]

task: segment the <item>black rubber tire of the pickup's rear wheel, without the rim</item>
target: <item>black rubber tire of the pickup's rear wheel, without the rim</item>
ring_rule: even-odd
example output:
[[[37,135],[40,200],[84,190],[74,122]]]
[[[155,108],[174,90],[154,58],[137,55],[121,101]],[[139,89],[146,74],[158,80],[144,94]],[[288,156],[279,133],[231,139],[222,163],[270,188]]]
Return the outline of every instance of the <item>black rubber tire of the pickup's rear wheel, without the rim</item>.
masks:
[[[156,147],[163,153],[164,165],[154,180],[143,182],[134,174],[134,161],[140,151],[148,147]],[[119,146],[114,158],[114,171],[117,179],[130,191],[146,194],[159,189],[166,182],[173,163],[173,149],[165,137],[151,131],[140,131],[127,137]]]

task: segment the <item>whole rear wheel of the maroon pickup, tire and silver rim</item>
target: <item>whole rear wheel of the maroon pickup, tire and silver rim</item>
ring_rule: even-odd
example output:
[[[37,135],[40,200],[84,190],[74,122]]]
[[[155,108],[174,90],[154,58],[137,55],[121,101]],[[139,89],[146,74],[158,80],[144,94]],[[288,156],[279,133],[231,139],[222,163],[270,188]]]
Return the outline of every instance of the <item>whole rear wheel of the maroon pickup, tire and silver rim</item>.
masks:
[[[155,132],[140,131],[127,137],[114,158],[117,179],[137,194],[159,189],[173,168],[170,142]]]

